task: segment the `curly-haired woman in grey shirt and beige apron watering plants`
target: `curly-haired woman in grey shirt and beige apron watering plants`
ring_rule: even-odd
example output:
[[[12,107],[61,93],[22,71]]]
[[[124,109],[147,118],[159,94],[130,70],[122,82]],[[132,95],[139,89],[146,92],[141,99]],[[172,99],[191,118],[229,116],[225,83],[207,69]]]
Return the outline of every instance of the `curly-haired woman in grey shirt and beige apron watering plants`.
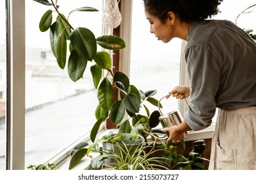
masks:
[[[219,108],[209,169],[256,169],[256,44],[232,22],[207,20],[221,1],[144,0],[150,33],[163,42],[187,41],[190,86],[169,94],[190,96],[190,104],[184,122],[165,128],[167,142],[208,127]]]

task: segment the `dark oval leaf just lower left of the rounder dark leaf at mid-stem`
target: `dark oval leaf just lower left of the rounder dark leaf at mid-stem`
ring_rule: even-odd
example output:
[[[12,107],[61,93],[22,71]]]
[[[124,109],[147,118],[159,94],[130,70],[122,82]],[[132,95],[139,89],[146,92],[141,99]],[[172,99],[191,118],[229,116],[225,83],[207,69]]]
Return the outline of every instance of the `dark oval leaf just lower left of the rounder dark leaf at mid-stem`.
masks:
[[[123,116],[125,116],[125,105],[123,105],[123,101],[114,102],[110,108],[110,119],[115,124],[119,124],[123,120]]]

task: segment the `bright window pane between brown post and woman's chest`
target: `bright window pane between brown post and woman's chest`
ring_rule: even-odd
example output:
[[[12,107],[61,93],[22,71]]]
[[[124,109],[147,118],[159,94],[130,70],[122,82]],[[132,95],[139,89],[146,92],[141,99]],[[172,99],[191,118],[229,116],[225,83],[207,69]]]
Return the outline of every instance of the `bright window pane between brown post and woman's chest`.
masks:
[[[156,99],[168,94],[179,85],[181,40],[173,39],[165,44],[150,33],[142,1],[133,1],[133,25],[131,35],[131,84],[143,92],[158,90]],[[163,113],[178,109],[178,100],[161,101]],[[156,110],[152,107],[150,112]]]

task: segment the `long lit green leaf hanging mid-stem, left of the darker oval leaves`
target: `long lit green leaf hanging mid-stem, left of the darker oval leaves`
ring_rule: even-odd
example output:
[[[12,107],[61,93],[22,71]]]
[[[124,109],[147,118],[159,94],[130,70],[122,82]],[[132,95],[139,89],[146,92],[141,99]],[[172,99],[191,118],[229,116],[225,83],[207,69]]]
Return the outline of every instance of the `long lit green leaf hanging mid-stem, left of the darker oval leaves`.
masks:
[[[104,78],[98,86],[98,101],[105,110],[110,110],[114,102],[114,90],[108,78]]]

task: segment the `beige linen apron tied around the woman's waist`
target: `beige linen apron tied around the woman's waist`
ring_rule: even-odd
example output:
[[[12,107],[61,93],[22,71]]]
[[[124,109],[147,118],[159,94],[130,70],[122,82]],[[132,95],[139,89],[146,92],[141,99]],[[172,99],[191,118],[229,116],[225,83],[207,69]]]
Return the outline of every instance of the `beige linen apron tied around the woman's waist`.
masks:
[[[256,107],[219,109],[209,169],[256,170]]]

